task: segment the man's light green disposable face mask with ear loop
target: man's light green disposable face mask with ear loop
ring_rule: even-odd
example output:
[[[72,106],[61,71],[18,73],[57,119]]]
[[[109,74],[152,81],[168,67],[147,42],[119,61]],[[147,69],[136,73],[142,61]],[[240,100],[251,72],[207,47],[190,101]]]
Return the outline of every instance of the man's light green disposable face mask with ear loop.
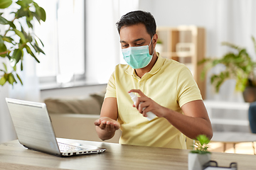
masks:
[[[129,64],[129,66],[131,66],[133,69],[142,69],[151,62],[154,55],[154,50],[153,54],[149,55],[149,46],[152,40],[153,37],[151,38],[149,45],[122,49],[124,60],[127,62],[127,64]]]

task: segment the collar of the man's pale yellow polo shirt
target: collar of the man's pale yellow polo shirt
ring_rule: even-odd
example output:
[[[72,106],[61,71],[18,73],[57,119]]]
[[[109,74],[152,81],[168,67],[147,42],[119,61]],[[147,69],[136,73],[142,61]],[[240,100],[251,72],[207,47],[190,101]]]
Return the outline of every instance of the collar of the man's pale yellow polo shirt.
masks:
[[[149,74],[152,74],[152,75],[156,74],[156,72],[158,72],[164,64],[164,58],[159,55],[159,52],[156,52],[156,56],[158,57],[156,60],[156,63],[154,64],[152,69],[149,71]],[[132,67],[130,66],[127,68],[125,72],[129,75],[134,75],[134,76],[137,75],[135,73],[135,69],[132,69]]]

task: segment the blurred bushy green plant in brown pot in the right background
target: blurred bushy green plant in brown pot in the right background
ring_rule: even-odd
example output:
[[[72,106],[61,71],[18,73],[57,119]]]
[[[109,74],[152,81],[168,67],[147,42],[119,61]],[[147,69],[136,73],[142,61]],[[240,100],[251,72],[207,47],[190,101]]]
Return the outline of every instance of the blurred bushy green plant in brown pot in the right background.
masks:
[[[252,42],[256,52],[255,38],[252,36]],[[223,64],[225,70],[219,74],[212,74],[210,76],[210,84],[215,86],[215,91],[218,93],[220,86],[228,79],[235,79],[235,90],[242,91],[245,102],[256,101],[256,62],[251,60],[245,47],[238,47],[230,42],[222,42],[222,45],[231,47],[234,52],[228,52],[220,59],[204,59],[198,64],[205,64],[201,78],[206,77],[206,72],[218,64]],[[249,91],[249,92],[248,92]],[[249,95],[249,96],[248,96]]]

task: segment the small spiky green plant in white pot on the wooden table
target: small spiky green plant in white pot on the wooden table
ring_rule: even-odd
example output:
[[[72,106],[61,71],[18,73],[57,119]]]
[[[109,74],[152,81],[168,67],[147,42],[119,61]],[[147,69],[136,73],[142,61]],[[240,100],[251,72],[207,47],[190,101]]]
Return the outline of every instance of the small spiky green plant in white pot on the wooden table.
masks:
[[[201,170],[203,164],[210,161],[208,143],[210,140],[206,135],[198,135],[193,145],[193,150],[188,153],[188,170]]]

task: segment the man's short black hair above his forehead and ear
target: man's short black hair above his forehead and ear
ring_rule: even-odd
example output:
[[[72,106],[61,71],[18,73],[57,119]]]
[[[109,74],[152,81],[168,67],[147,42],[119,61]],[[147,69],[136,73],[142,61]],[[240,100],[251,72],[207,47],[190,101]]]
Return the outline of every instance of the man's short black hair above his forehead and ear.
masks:
[[[120,34],[122,26],[133,26],[139,23],[144,24],[146,26],[146,32],[153,37],[156,33],[156,21],[151,13],[145,11],[132,11],[122,16],[116,23],[118,33]]]

